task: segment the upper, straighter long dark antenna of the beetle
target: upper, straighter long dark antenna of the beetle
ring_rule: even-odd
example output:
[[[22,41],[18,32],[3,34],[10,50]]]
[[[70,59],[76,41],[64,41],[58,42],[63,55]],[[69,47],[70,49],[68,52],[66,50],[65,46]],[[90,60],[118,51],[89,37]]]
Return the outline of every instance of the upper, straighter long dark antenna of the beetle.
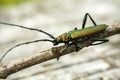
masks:
[[[50,38],[52,39],[55,39],[55,37],[43,30],[40,30],[40,29],[36,29],[36,28],[28,28],[28,27],[25,27],[25,26],[21,26],[21,25],[17,25],[17,24],[11,24],[11,23],[6,23],[6,22],[0,22],[0,24],[4,24],[4,25],[10,25],[10,26],[17,26],[17,27],[20,27],[20,28],[24,28],[24,29],[28,29],[28,30],[33,30],[33,31],[38,31],[38,32],[42,32],[46,35],[48,35]]]

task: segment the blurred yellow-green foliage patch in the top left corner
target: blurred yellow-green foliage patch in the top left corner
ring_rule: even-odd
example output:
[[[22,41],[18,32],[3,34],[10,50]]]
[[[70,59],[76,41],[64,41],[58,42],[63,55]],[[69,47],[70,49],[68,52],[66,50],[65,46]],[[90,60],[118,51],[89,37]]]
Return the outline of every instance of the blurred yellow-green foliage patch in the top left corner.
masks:
[[[0,8],[8,8],[13,6],[18,6],[20,4],[26,2],[36,2],[36,1],[43,1],[43,0],[0,0]]]

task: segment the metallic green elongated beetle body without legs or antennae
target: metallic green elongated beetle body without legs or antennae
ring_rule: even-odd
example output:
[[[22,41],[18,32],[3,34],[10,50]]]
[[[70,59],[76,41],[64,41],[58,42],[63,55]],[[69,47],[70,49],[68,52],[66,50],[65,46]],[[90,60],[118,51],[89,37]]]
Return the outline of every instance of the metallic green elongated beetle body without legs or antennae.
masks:
[[[55,40],[56,40],[57,44],[62,43],[62,42],[69,42],[71,40],[75,40],[78,38],[82,38],[82,37],[86,37],[86,36],[89,36],[92,34],[102,32],[107,27],[108,27],[108,25],[101,24],[101,25],[87,27],[84,29],[76,29],[76,30],[69,31],[68,33],[64,33],[64,34],[56,37]]]

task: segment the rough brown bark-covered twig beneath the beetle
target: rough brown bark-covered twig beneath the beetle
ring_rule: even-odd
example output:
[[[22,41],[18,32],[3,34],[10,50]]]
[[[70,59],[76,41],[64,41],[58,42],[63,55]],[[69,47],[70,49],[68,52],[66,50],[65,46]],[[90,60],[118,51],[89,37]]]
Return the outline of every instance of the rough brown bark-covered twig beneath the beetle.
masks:
[[[119,33],[120,33],[120,24],[114,24],[112,26],[109,26],[104,33],[98,34],[97,37],[106,38]],[[84,42],[80,43],[80,45],[82,46],[82,48],[84,48],[87,47],[92,42],[93,41],[85,40]],[[52,47],[51,49],[42,51],[36,55],[27,57],[25,59],[21,59],[18,62],[10,63],[6,66],[0,67],[0,78],[7,78],[10,74],[18,72],[22,69],[57,58],[58,54],[62,56],[75,51],[76,48],[74,45],[71,45],[69,48],[65,48],[65,46]]]

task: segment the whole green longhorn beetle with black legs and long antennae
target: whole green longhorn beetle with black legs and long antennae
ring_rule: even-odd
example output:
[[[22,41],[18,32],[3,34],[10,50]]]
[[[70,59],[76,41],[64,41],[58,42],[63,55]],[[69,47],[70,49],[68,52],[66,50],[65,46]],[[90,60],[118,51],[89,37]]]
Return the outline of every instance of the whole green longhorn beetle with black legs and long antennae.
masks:
[[[92,23],[94,24],[94,26],[91,27],[87,27],[85,28],[85,24],[86,24],[86,20],[87,20],[87,16],[89,16],[90,20],[92,21]],[[96,33],[100,33],[106,30],[106,28],[108,27],[108,25],[105,24],[100,24],[97,25],[95,23],[95,21],[92,19],[92,17],[90,16],[89,13],[86,13],[83,19],[83,24],[82,24],[82,29],[77,29],[75,28],[72,31],[69,31],[67,33],[63,33],[58,37],[54,37],[53,35],[43,31],[43,30],[39,30],[39,29],[35,29],[35,28],[28,28],[25,26],[21,26],[21,25],[16,25],[16,24],[11,24],[11,23],[6,23],[6,22],[0,22],[0,24],[4,24],[4,25],[10,25],[10,26],[16,26],[16,27],[20,27],[20,28],[24,28],[24,29],[28,29],[28,30],[33,30],[33,31],[38,31],[38,32],[42,32],[46,35],[48,35],[50,38],[52,38],[53,40],[49,40],[49,39],[40,39],[40,40],[35,40],[35,41],[30,41],[30,42],[25,42],[25,43],[21,43],[18,45],[15,45],[14,47],[10,48],[0,59],[1,60],[5,57],[5,55],[10,52],[12,49],[24,45],[24,44],[30,44],[30,43],[35,43],[35,42],[40,42],[40,41],[49,41],[52,42],[53,45],[58,45],[59,43],[65,43],[66,47],[69,47],[69,43],[73,43],[76,46],[76,51],[78,48],[81,48],[81,46],[79,44],[77,44],[77,40],[78,39],[82,39],[85,37],[89,37],[90,35],[96,34]],[[100,43],[96,43],[93,45],[98,45],[98,44],[102,44],[105,42],[108,42],[108,39],[92,39],[94,41],[101,41]],[[92,45],[92,44],[90,44]]]

